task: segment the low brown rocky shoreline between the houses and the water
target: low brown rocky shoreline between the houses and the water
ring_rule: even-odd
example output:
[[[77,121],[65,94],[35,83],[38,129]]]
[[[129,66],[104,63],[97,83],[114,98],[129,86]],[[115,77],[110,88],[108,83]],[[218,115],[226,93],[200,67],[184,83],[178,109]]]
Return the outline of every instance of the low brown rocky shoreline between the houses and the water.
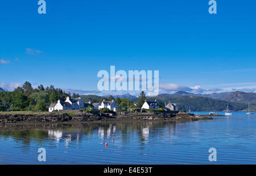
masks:
[[[80,112],[76,114],[0,114],[0,124],[12,123],[90,123],[90,122],[113,122],[113,121],[196,121],[196,120],[210,120],[213,119],[212,115],[195,115],[190,113],[177,113],[177,114],[162,114],[154,112],[146,113],[133,113],[125,115],[112,115],[112,114],[88,114]],[[218,115],[221,116],[221,115]]]

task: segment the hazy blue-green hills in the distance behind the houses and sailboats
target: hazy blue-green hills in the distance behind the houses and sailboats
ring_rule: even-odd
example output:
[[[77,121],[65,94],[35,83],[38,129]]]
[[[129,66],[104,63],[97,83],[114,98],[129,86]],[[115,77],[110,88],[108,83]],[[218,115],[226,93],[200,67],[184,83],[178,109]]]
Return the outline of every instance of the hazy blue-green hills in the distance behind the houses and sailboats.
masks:
[[[105,97],[109,97],[107,95]],[[137,102],[138,98],[130,95],[114,95],[114,98],[131,98],[133,102]],[[81,95],[82,99],[92,98],[98,100],[98,95]],[[192,111],[224,111],[229,103],[229,109],[232,111],[246,111],[248,104],[251,104],[251,110],[256,110],[256,93],[245,93],[241,91],[213,93],[213,94],[193,94],[186,91],[177,91],[174,94],[159,94],[156,97],[147,97],[148,100],[158,99],[160,103],[168,102],[176,103],[179,110]]]

